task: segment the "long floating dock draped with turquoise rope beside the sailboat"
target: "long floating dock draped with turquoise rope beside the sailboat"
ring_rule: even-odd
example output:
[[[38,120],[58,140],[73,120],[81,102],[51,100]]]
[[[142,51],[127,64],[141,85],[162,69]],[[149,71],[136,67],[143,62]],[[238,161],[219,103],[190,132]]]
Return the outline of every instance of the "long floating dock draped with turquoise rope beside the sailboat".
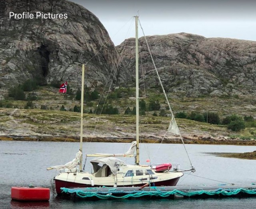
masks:
[[[256,185],[60,188],[73,200],[256,197]]]

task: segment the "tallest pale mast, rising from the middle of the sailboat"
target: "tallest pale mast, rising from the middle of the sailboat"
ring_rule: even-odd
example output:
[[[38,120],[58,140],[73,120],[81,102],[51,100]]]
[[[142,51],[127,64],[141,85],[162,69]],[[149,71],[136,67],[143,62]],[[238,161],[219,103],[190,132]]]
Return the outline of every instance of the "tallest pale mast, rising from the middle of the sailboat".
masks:
[[[135,49],[136,49],[136,165],[140,163],[139,150],[139,44],[138,44],[138,16],[135,16]]]

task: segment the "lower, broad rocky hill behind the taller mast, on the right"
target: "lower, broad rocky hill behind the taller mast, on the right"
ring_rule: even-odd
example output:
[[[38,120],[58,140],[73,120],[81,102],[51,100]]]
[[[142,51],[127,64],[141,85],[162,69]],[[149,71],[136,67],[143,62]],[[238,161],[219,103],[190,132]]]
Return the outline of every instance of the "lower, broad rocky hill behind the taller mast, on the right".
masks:
[[[178,33],[147,36],[156,67],[168,92],[180,96],[256,95],[256,42],[205,38]],[[135,69],[135,40],[116,47],[131,74]],[[146,88],[158,87],[156,72],[144,37],[139,39]]]

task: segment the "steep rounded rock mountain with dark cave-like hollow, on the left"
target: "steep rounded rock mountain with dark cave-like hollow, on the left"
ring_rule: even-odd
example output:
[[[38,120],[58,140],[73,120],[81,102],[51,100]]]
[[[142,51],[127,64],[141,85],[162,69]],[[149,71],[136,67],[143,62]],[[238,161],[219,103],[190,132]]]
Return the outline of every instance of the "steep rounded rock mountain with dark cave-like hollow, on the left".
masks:
[[[9,12],[67,14],[67,19],[14,19]],[[65,0],[4,0],[0,2],[0,90],[27,79],[80,84],[81,66],[87,63],[86,85],[129,81],[126,68],[116,71],[118,53],[108,32],[94,14]],[[90,61],[90,62],[89,62]],[[113,71],[112,71],[113,70]],[[112,71],[112,72],[111,72]]]

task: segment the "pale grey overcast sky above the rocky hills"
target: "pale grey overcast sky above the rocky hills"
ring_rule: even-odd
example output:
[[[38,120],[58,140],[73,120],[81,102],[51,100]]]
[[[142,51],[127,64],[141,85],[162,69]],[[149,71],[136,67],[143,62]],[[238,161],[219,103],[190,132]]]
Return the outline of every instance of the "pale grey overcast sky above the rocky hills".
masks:
[[[126,38],[134,37],[132,17],[138,14],[137,11],[146,35],[187,32],[207,38],[256,41],[255,0],[70,1],[95,14],[115,45]],[[139,32],[139,36],[142,36],[142,32]]]

